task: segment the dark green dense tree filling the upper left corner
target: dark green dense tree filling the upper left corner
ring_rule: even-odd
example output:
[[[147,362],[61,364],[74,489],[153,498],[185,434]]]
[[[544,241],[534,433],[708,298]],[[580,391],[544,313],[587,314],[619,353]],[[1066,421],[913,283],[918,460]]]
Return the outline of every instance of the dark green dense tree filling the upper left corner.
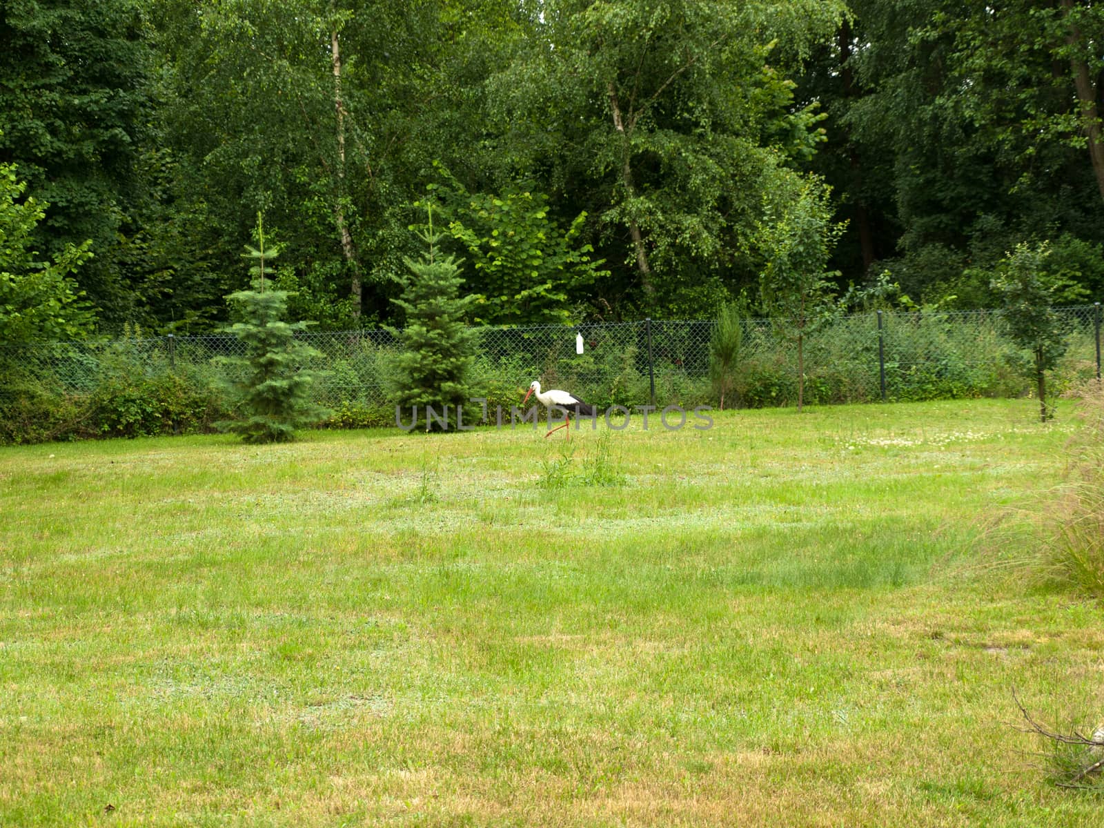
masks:
[[[142,301],[120,248],[146,198],[149,71],[137,0],[0,6],[0,161],[49,204],[35,247],[57,256],[92,242],[78,282],[115,322]]]

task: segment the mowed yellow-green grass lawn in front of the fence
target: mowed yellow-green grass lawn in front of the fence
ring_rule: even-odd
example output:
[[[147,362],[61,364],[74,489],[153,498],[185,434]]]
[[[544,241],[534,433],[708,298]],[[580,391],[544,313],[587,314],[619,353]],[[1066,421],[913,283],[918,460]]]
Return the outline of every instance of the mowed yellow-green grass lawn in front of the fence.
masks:
[[[1104,613],[979,542],[1068,413],[0,450],[0,825],[1097,826],[1011,692]]]

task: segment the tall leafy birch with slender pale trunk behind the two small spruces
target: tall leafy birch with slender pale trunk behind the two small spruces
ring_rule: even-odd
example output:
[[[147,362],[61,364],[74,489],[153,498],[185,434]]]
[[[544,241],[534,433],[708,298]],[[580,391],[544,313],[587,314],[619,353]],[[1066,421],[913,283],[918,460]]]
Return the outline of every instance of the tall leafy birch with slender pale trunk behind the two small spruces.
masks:
[[[332,326],[390,317],[432,162],[481,169],[478,107],[512,7],[485,0],[163,0],[167,135],[203,245],[264,209],[285,229],[301,301]],[[247,210],[241,208],[245,205]]]

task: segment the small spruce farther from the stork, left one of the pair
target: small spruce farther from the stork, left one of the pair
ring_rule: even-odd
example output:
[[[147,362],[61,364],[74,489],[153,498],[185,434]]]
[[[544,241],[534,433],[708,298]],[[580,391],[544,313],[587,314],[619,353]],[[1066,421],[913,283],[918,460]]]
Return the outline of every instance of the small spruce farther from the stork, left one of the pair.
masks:
[[[238,321],[226,330],[244,347],[244,355],[223,358],[236,367],[241,378],[234,383],[236,420],[220,423],[223,431],[241,434],[246,443],[284,443],[295,438],[297,428],[317,423],[328,413],[310,400],[310,389],[319,372],[307,368],[320,352],[297,340],[297,331],[312,322],[284,321],[286,290],[272,290],[272,269],[266,265],[279,255],[276,246],[265,247],[264,223],[257,214],[257,247],[246,245],[245,258],[256,264],[252,290],[237,290],[226,298]]]

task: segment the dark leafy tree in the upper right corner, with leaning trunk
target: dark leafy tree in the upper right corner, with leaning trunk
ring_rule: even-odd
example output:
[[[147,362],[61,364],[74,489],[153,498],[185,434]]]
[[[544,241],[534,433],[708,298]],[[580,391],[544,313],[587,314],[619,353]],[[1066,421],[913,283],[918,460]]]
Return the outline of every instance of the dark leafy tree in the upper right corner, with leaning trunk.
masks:
[[[851,9],[798,95],[829,116],[811,167],[850,221],[835,258],[846,276],[889,267],[914,297],[969,307],[999,302],[986,274],[1020,240],[1051,237],[1084,261],[1104,240],[1089,105],[1104,68],[1098,3]]]

